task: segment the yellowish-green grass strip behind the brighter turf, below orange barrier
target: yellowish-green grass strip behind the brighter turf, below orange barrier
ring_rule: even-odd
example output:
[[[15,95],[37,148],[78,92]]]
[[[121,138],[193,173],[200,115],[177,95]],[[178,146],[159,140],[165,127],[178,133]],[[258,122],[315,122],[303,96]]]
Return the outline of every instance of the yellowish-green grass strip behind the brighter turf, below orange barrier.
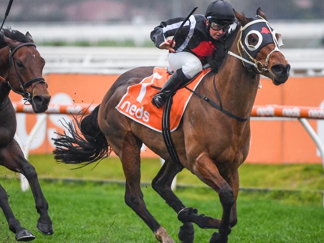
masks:
[[[124,181],[121,162],[117,157],[102,160],[95,168],[92,163],[84,168],[74,165],[57,164],[51,154],[31,155],[29,161],[34,165],[40,178],[82,178],[92,180]],[[159,159],[143,158],[141,163],[141,180],[150,183],[156,176],[161,164]],[[239,168],[241,187],[259,187],[288,190],[324,190],[324,172],[322,164],[243,164]],[[11,175],[0,167],[0,177]],[[178,176],[179,184],[204,185],[195,175],[183,169]]]

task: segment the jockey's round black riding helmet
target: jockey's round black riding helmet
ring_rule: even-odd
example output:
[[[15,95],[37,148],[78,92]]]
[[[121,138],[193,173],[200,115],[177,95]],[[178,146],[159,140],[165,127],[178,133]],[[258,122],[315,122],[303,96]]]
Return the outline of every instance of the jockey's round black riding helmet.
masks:
[[[220,25],[232,24],[235,20],[233,7],[224,0],[216,0],[210,3],[205,17],[209,22],[215,22]]]

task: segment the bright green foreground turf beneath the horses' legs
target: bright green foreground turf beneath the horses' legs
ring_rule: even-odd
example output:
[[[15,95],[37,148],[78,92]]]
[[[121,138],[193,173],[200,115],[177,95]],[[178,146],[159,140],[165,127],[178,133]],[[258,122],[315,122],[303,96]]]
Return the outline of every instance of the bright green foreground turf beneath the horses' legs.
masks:
[[[36,235],[34,243],[155,243],[153,233],[124,203],[124,185],[40,181],[49,203],[55,233],[35,230],[38,215],[31,192],[21,192],[16,179],[3,179],[12,210],[21,225]],[[151,187],[143,187],[148,209],[175,240],[181,225],[175,213]],[[176,190],[182,202],[199,213],[220,217],[218,196],[209,188]],[[229,243],[322,243],[324,210],[318,193],[240,192],[238,224]],[[195,242],[209,242],[214,230],[195,226]],[[0,214],[0,242],[14,243]]]

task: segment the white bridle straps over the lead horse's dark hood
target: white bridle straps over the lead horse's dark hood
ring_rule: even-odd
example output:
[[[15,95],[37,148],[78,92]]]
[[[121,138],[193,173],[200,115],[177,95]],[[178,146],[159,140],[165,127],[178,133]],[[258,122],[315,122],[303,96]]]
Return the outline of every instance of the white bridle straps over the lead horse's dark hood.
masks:
[[[235,54],[235,53],[233,53],[233,52],[231,52],[231,51],[228,51],[227,53],[228,53],[229,55],[231,55],[231,56],[234,56],[234,57],[236,57],[236,58],[242,60],[243,65],[244,65],[244,62],[245,62],[245,63],[248,63],[248,64],[252,65],[253,67],[255,67],[256,70],[257,70],[259,73],[263,73],[264,71],[265,71],[265,72],[268,72],[267,67],[268,67],[268,64],[269,64],[269,60],[270,60],[270,56],[271,56],[271,54],[274,53],[275,51],[279,51],[279,52],[281,52],[280,49],[279,49],[279,46],[280,46],[281,44],[280,44],[280,43],[278,42],[278,40],[276,39],[275,33],[274,33],[274,31],[272,30],[272,28],[270,27],[268,21],[265,20],[264,18],[262,18],[262,17],[259,16],[259,15],[257,15],[256,17],[259,17],[259,19],[256,19],[256,20],[253,20],[253,21],[249,22],[249,23],[246,24],[244,27],[242,26],[241,29],[240,29],[240,37],[239,37],[239,40],[238,40],[238,42],[237,42],[237,49],[238,49],[240,55],[237,55],[237,54]],[[243,43],[242,43],[242,33],[243,33],[243,31],[244,31],[247,27],[249,27],[249,26],[251,26],[251,25],[253,25],[253,24],[256,24],[256,23],[261,23],[261,22],[264,22],[265,25],[266,25],[266,26],[269,28],[269,30],[271,31],[271,35],[272,35],[272,39],[273,39],[273,43],[275,44],[275,48],[274,48],[274,49],[273,49],[273,50],[272,50],[272,51],[267,55],[267,58],[266,58],[266,61],[265,61],[265,64],[264,64],[264,65],[261,63],[261,61],[258,61],[258,60],[256,60],[254,57],[252,57],[252,56],[250,55],[250,53],[246,50],[246,48],[244,47],[244,45],[243,45]],[[249,60],[247,60],[247,59],[245,59],[245,58],[243,57],[243,53],[241,53],[240,47],[241,47],[243,53],[245,53],[245,54],[250,58],[251,61],[249,61]],[[259,69],[259,65],[261,65],[261,68],[260,68],[261,70]],[[245,65],[244,65],[244,66],[245,66]]]

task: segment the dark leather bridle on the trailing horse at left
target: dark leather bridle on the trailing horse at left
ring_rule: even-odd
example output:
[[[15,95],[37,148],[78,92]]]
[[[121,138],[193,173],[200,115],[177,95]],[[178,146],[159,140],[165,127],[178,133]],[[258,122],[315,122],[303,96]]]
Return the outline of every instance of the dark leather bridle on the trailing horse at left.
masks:
[[[19,83],[20,91],[14,90],[14,89],[11,87],[9,80],[6,80],[6,79],[4,79],[4,78],[2,78],[2,77],[0,77],[0,79],[3,80],[3,81],[5,81],[5,82],[9,85],[10,89],[11,89],[14,93],[17,93],[17,94],[21,95],[21,96],[24,98],[24,100],[25,100],[25,104],[26,104],[27,102],[29,102],[29,104],[31,104],[32,92],[33,92],[33,89],[35,88],[35,86],[36,86],[37,84],[42,84],[42,83],[44,83],[44,84],[46,84],[46,87],[47,87],[47,83],[45,82],[45,79],[42,78],[42,77],[35,77],[35,78],[32,78],[32,79],[28,80],[28,81],[25,82],[25,83],[22,83],[22,82],[20,81],[19,76],[18,76],[18,73],[17,73],[17,70],[16,70],[16,67],[15,67],[15,63],[14,63],[14,59],[13,59],[13,55],[14,55],[14,53],[15,53],[19,48],[21,48],[21,47],[23,47],[23,46],[35,46],[35,47],[36,47],[36,45],[35,45],[33,42],[26,42],[26,43],[22,43],[22,44],[16,46],[16,47],[13,49],[13,51],[11,51],[11,49],[9,49],[9,52],[10,52],[10,53],[9,53],[8,77],[9,77],[9,75],[10,75],[10,67],[11,67],[11,64],[12,64],[13,71],[14,71],[14,73],[15,73],[15,75],[16,75],[16,78],[17,78],[17,80],[18,80],[18,83]],[[29,85],[31,85],[32,83],[36,83],[36,84],[35,84],[35,86],[32,88],[31,93],[29,93],[29,92],[26,91],[26,88],[27,88]]]

